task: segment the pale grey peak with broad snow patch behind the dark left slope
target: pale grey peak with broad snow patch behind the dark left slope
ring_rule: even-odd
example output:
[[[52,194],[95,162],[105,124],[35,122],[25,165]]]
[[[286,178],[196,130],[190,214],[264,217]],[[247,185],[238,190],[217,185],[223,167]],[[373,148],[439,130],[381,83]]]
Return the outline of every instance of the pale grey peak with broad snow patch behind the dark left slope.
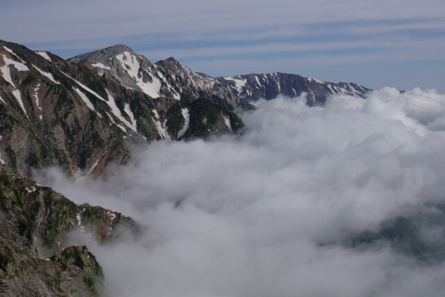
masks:
[[[193,101],[199,97],[209,97],[229,109],[252,108],[216,79],[192,72],[174,58],[153,64],[126,45],[91,51],[68,61],[90,63],[96,67],[97,72],[107,72],[122,86],[140,90],[152,98],[171,97],[181,101]]]

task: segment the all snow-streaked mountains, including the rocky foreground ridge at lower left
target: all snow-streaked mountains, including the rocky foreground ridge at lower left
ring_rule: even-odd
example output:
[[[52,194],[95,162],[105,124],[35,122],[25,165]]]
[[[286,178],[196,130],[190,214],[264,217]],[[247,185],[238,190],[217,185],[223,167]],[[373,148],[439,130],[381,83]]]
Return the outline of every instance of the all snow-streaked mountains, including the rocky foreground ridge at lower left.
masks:
[[[108,163],[126,163],[130,144],[236,133],[239,115],[260,98],[306,93],[309,106],[322,106],[333,94],[369,91],[278,72],[211,77],[175,58],[152,63],[125,45],[65,60],[0,40],[0,289],[96,294],[92,282],[102,271],[94,256],[85,247],[60,248],[58,238],[86,214],[96,230],[121,222],[137,229],[131,218],[36,185],[27,179],[33,169],[58,166],[76,179],[94,177]]]

